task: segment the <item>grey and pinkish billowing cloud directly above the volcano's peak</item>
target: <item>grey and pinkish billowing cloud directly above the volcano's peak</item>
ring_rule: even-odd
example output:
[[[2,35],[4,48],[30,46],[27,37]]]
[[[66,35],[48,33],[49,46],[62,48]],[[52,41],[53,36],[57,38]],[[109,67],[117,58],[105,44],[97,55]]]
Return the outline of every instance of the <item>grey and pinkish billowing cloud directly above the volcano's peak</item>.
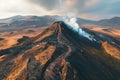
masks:
[[[99,0],[28,0],[48,11],[54,11],[62,15],[78,15],[91,6],[96,5]]]

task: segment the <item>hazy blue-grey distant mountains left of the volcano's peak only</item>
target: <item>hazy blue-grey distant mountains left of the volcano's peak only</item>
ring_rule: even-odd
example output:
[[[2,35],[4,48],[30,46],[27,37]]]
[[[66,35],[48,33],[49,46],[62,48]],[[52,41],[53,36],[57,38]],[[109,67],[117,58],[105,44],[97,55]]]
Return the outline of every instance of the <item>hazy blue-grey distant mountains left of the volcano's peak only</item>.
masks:
[[[47,26],[52,20],[50,16],[14,16],[0,20],[2,28],[26,28]]]

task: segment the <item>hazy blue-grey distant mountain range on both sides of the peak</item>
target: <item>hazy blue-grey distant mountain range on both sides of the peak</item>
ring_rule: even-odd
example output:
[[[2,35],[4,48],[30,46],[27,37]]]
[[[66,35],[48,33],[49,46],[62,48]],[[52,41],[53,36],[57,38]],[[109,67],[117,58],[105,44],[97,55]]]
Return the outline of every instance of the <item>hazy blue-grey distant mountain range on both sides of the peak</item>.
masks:
[[[59,18],[62,18],[62,16],[13,16],[6,19],[0,19],[0,31],[21,29],[26,27],[48,26],[53,22],[58,21]],[[107,28],[120,29],[120,17],[100,21],[77,18],[77,22],[79,24],[94,24]]]

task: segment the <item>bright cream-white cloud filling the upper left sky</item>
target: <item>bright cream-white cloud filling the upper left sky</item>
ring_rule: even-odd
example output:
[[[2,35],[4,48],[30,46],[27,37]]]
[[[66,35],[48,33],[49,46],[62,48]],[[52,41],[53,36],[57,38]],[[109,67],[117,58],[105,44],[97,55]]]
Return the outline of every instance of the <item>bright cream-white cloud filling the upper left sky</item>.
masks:
[[[27,0],[0,0],[0,18],[15,15],[44,15],[45,13],[51,14],[52,12],[33,5]]]

